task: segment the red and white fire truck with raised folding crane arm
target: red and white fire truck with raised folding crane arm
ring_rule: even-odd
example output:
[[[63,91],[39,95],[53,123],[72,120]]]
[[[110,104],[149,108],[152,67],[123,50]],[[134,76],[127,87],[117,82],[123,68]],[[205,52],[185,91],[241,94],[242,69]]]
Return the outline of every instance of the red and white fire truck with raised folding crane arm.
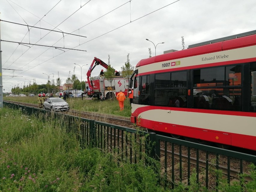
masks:
[[[122,90],[122,92],[127,96],[127,90],[129,87],[129,80],[123,78],[123,76],[116,76],[112,82],[108,81],[104,76],[96,76],[91,78],[91,73],[93,69],[101,65],[105,69],[108,69],[108,65],[101,59],[94,57],[92,64],[87,72],[88,90],[87,95],[92,98],[98,99],[112,99],[117,95],[117,93]]]

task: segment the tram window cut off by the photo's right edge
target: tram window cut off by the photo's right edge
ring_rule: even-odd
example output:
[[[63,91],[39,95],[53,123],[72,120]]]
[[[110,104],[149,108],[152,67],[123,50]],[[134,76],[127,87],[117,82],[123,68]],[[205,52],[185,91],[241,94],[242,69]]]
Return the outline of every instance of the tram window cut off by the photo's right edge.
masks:
[[[251,72],[251,102],[250,111],[256,112],[256,62],[252,62],[250,66]]]

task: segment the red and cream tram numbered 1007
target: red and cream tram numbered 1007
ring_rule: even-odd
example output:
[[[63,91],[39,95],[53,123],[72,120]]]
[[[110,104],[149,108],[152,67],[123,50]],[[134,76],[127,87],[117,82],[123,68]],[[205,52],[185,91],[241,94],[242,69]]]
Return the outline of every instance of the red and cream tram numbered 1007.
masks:
[[[142,59],[131,122],[256,150],[256,30]]]

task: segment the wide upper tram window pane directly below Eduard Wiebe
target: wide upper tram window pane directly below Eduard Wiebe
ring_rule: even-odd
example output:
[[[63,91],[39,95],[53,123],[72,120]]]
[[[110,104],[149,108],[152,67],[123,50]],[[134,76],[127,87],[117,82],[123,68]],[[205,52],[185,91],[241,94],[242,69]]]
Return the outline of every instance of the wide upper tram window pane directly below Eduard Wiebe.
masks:
[[[194,87],[223,86],[225,67],[194,70]]]

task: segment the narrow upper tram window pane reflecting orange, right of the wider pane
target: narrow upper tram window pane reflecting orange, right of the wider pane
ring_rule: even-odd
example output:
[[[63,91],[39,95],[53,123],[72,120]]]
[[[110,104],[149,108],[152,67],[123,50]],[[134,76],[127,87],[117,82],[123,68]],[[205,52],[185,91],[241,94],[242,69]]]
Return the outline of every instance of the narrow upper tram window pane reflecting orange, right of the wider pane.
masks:
[[[226,85],[241,86],[241,65],[226,67]]]

